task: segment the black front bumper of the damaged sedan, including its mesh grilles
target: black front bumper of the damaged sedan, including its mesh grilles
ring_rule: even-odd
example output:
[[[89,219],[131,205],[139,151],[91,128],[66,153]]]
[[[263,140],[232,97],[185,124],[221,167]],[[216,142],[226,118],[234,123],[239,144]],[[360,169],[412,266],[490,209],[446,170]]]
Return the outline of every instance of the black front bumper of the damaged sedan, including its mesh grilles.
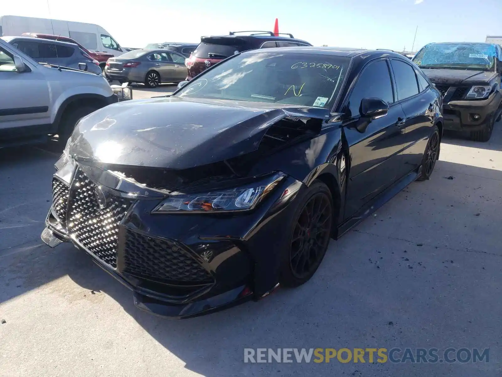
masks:
[[[43,241],[51,247],[72,242],[133,290],[139,309],[175,318],[260,299],[277,288],[295,197],[282,194],[304,189],[288,177],[253,212],[222,217],[152,214],[159,201],[123,198],[110,198],[97,211],[94,195],[87,195],[93,183],[78,193],[76,183],[82,189],[74,175],[65,192],[67,183],[53,178]]]

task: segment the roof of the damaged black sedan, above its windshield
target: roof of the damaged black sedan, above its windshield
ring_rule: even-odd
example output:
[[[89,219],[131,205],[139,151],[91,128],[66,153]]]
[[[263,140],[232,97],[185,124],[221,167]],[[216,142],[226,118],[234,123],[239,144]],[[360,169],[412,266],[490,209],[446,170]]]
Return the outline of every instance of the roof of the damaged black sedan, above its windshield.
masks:
[[[243,54],[263,53],[264,49],[250,50],[242,52]],[[312,55],[331,55],[331,56],[346,56],[354,57],[363,55],[364,57],[398,57],[405,58],[398,52],[392,50],[368,50],[363,48],[351,47],[314,47],[314,46],[299,46],[299,47],[275,47],[267,48],[266,52],[281,51],[298,54],[312,54]]]

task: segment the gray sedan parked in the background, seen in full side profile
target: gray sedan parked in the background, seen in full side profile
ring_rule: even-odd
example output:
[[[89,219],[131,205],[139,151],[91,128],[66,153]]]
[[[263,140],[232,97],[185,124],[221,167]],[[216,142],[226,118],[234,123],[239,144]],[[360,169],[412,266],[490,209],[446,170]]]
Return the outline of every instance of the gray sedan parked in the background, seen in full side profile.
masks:
[[[160,83],[178,83],[187,77],[185,57],[166,50],[134,50],[106,62],[104,74],[109,80],[142,82],[148,87]]]

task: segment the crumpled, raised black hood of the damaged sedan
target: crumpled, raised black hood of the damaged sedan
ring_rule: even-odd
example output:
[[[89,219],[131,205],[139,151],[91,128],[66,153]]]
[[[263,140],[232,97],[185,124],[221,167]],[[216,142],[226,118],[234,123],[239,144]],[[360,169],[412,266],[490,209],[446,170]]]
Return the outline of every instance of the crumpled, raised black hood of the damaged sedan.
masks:
[[[69,153],[95,163],[186,169],[256,150],[288,115],[327,118],[329,111],[178,97],[125,101],[83,118]]]

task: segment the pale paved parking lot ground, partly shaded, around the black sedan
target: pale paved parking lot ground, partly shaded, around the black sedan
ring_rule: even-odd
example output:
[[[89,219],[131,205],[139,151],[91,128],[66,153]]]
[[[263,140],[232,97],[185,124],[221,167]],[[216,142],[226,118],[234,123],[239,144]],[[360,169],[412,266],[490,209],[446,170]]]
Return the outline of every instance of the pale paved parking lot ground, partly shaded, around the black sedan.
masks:
[[[138,87],[134,98],[171,90]],[[58,155],[1,149],[0,375],[499,377],[502,122],[488,143],[453,136],[431,179],[332,241],[307,284],[182,321],[135,309],[73,246],[45,246]],[[248,347],[490,350],[476,364],[250,364]]]

